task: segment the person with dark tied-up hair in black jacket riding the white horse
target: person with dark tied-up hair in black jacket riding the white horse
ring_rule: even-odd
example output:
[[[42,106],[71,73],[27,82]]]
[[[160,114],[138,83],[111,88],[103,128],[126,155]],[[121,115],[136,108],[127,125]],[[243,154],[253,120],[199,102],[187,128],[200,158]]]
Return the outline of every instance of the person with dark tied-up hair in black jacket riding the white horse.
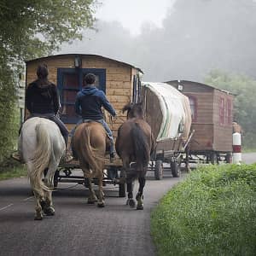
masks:
[[[60,100],[55,84],[48,80],[48,74],[47,65],[39,65],[37,70],[38,79],[29,84],[26,89],[25,105],[30,112],[28,119],[32,117],[42,117],[54,121],[60,128],[67,148],[68,130],[66,125],[64,125],[58,117]],[[21,160],[19,153],[12,154],[12,157],[15,160]],[[73,160],[73,156],[67,149],[64,160],[66,162]]]

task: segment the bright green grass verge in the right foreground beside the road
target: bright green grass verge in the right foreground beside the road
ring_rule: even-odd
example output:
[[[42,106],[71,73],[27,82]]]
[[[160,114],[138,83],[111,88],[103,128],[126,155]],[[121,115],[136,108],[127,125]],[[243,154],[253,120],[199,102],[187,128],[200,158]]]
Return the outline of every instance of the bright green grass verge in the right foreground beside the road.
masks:
[[[207,166],[151,214],[158,255],[255,255],[256,165]]]

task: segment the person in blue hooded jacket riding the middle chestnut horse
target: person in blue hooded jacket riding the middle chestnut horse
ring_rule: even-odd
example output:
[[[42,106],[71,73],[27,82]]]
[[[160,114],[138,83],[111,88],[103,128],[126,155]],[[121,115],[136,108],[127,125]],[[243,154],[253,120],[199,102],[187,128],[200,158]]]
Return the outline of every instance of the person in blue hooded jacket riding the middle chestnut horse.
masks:
[[[96,76],[93,73],[88,73],[84,76],[84,87],[79,91],[75,101],[75,112],[82,116],[76,126],[83,122],[96,121],[103,125],[110,139],[110,160],[114,158],[114,146],[113,146],[113,133],[108,127],[108,124],[103,119],[102,107],[105,108],[114,118],[117,114],[113,109],[108,98],[102,90],[99,90],[95,86]],[[71,132],[71,136],[74,134],[74,129]]]

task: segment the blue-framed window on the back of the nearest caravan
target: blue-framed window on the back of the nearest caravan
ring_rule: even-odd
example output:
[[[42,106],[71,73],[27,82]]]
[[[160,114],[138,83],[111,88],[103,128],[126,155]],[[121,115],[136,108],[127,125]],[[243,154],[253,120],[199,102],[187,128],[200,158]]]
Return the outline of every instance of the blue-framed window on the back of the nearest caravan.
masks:
[[[83,87],[83,78],[87,73],[96,75],[96,87],[106,93],[106,69],[103,68],[58,68],[57,87],[61,102],[61,120],[75,124],[79,116],[75,113],[74,102]]]

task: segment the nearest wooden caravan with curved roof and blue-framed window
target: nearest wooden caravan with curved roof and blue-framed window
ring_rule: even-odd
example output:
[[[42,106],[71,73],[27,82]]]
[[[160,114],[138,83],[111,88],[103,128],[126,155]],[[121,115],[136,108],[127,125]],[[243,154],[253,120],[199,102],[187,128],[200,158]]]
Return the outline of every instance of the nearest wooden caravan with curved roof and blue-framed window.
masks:
[[[128,102],[137,102],[140,97],[140,76],[143,73],[141,69],[101,55],[50,55],[26,61],[26,86],[37,79],[37,67],[41,63],[47,64],[49,80],[58,87],[61,120],[69,130],[79,120],[74,111],[74,102],[78,91],[82,89],[84,75],[94,73],[96,86],[106,93],[118,113],[119,119],[114,124],[110,124],[108,119],[108,125],[116,137],[119,125],[125,119],[121,109]]]

